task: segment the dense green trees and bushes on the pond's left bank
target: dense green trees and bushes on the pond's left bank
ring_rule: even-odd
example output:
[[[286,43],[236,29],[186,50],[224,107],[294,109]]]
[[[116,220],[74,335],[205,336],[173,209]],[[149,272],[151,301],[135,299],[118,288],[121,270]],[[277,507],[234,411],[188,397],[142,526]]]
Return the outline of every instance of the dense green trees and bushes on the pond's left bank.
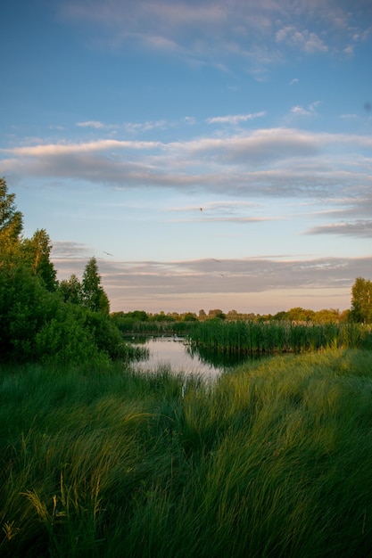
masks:
[[[0,362],[82,365],[128,356],[110,318],[95,258],[82,281],[58,282],[45,229],[24,238],[23,216],[0,178]]]

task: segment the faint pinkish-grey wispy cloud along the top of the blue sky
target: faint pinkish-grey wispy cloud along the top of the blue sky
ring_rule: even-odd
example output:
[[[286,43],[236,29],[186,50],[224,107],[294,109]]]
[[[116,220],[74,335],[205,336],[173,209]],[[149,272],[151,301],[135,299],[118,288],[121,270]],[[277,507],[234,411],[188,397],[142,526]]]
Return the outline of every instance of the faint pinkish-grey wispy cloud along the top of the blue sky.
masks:
[[[65,21],[84,21],[95,28],[95,47],[120,50],[128,42],[140,48],[182,57],[186,62],[210,63],[225,70],[232,57],[248,61],[260,71],[287,49],[305,55],[339,52],[351,55],[353,46],[370,39],[371,8],[333,0],[311,3],[266,0],[228,3],[204,0],[63,0],[59,13]],[[302,21],[307,21],[306,29]]]

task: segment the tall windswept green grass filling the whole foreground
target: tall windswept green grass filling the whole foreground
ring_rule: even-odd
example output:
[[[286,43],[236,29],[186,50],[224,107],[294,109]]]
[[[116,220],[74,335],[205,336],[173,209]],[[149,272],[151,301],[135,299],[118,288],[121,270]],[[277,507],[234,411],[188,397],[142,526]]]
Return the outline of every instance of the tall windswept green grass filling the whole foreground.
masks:
[[[0,555],[372,555],[372,352],[0,369]]]

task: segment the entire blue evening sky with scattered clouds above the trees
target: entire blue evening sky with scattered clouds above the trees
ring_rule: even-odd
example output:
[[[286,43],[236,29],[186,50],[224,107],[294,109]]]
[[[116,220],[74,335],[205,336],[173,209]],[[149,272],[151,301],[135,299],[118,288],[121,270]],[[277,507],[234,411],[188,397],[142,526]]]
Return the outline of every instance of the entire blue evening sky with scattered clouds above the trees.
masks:
[[[372,277],[370,0],[12,0],[0,176],[112,311],[351,307]]]

